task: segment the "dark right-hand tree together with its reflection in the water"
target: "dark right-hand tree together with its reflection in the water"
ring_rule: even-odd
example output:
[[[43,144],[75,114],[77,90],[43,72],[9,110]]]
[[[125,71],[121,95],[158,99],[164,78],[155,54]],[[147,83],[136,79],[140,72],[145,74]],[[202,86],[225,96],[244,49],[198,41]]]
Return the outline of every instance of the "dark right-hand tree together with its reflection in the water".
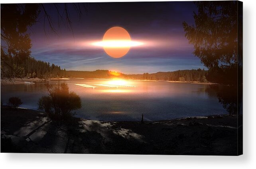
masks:
[[[193,54],[209,68],[207,80],[224,84],[213,87],[219,102],[231,115],[238,113],[242,104],[241,74],[237,83],[242,72],[242,4],[238,3],[195,2],[198,8],[198,13],[194,12],[195,25],[183,22],[185,36],[195,49]]]

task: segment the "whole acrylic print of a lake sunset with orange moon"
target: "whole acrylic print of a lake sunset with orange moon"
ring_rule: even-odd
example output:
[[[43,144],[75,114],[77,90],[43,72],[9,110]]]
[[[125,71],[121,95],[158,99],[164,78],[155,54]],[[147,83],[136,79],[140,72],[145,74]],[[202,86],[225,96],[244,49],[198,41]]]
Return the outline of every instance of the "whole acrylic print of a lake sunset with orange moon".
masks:
[[[242,2],[1,4],[1,152],[242,154]]]

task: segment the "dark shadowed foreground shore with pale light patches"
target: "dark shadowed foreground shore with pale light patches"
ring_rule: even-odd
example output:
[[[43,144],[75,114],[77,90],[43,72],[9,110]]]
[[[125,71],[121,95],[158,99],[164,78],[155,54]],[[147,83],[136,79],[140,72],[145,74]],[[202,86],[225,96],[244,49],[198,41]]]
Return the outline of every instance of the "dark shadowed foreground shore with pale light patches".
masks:
[[[51,121],[30,109],[1,107],[1,152],[237,155],[237,117],[107,122]]]

